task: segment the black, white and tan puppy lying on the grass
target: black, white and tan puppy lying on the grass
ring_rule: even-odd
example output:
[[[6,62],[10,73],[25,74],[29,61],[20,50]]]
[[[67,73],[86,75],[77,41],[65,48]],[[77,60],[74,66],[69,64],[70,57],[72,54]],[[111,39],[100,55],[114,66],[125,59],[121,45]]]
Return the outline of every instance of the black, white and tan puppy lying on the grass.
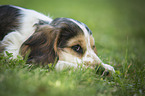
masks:
[[[56,62],[56,70],[83,64],[90,68],[101,65],[105,72],[115,72],[97,56],[91,30],[74,19],[53,20],[34,10],[3,5],[0,6],[0,40],[0,52],[13,53],[13,59],[28,55],[28,62]]]

